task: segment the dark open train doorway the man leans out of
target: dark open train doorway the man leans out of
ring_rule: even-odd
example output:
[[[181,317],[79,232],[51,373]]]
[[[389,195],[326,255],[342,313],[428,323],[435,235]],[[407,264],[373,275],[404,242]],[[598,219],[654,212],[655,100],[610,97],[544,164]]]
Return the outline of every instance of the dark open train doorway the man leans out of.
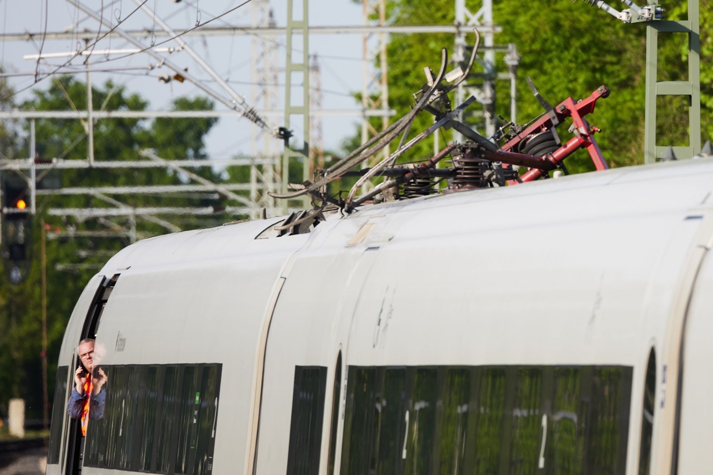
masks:
[[[73,342],[73,348],[76,348],[78,343],[85,338],[96,339],[96,335],[101,324],[101,315],[103,314],[106,303],[111,296],[111,291],[116,284],[119,274],[116,274],[112,278],[104,278],[101,286],[99,286],[96,295],[89,306],[89,311],[84,319],[81,333],[76,342]],[[82,365],[76,351],[73,351],[73,356],[71,357],[71,365],[68,367],[68,392],[71,392],[72,385],[74,384],[74,371],[79,365]],[[69,423],[66,427],[66,465],[65,465],[65,475],[78,475],[81,473],[82,469],[82,458],[84,442],[86,437],[82,436],[81,431],[81,420],[80,419],[69,419]]]

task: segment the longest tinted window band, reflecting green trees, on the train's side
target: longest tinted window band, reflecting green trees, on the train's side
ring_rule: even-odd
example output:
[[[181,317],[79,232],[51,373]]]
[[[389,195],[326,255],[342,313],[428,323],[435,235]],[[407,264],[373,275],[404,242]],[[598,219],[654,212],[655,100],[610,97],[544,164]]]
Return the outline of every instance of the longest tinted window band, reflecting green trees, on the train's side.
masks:
[[[624,473],[630,367],[350,366],[348,375],[342,474]]]

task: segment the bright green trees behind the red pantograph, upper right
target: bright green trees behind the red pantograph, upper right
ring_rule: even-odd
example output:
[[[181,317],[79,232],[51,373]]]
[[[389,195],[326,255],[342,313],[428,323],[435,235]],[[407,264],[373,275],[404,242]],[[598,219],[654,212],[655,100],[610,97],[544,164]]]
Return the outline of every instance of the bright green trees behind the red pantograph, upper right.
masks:
[[[668,18],[686,16],[686,1],[664,5]],[[702,61],[713,59],[713,41],[709,35],[713,25],[713,0],[700,0]],[[466,0],[466,8],[477,11],[482,3]],[[427,4],[409,0],[389,0],[389,24],[453,24],[453,1],[436,0]],[[645,44],[644,24],[623,24],[605,12],[587,6],[584,2],[573,4],[564,0],[533,0],[523,4],[515,0],[493,2],[494,22],[502,26],[496,35],[496,44],[515,43],[521,60],[518,67],[518,117],[511,118],[523,124],[543,113],[533,97],[526,77],[533,79],[538,90],[550,104],[572,96],[575,100],[586,98],[599,85],[612,90],[609,98],[600,100],[588,120],[602,129],[597,135],[605,158],[612,167],[643,163],[644,112],[645,112]],[[681,36],[681,35],[679,35]],[[660,51],[660,80],[679,78],[684,61],[685,41],[662,44]],[[472,41],[472,40],[471,40]],[[453,35],[409,34],[392,35],[387,47],[389,57],[389,105],[397,116],[406,114],[414,104],[412,94],[425,82],[424,66],[438,68],[440,49],[453,53]],[[482,53],[481,55],[482,56]],[[378,65],[376,65],[378,68]],[[452,67],[452,66],[451,66]],[[497,71],[507,71],[501,53],[496,61]],[[702,67],[702,128],[704,137],[713,136],[713,73]],[[476,63],[473,73],[482,73]],[[383,72],[382,72],[383,73]],[[476,77],[473,79],[478,81]],[[509,87],[496,83],[496,113],[509,113]],[[686,110],[680,103],[663,100],[660,114],[660,137],[670,137],[674,142],[687,137]],[[477,110],[478,105],[471,105]],[[667,110],[670,112],[667,113]],[[475,118],[468,121],[477,124]],[[411,137],[432,123],[428,114],[421,114],[411,128]],[[374,122],[376,125],[376,122]],[[560,127],[563,137],[566,127]],[[451,140],[449,135],[444,137]],[[441,143],[445,140],[441,140]],[[661,143],[661,140],[659,141]],[[351,146],[351,144],[350,144]],[[430,140],[424,140],[404,157],[404,161],[421,160],[432,154]],[[567,160],[570,171],[593,169],[584,150]]]

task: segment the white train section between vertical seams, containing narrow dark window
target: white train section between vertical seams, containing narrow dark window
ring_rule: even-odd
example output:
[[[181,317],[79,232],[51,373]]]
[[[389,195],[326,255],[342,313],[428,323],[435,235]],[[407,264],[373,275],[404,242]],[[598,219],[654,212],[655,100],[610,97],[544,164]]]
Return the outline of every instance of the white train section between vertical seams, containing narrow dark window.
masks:
[[[332,475],[349,328],[377,249],[306,256],[290,271],[267,337],[253,474]]]

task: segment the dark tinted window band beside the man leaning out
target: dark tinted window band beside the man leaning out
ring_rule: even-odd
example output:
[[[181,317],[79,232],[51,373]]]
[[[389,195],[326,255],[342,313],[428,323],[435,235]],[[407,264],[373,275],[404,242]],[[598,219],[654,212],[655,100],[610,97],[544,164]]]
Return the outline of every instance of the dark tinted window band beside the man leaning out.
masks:
[[[210,475],[222,365],[104,366],[103,419],[91,419],[86,466]]]

